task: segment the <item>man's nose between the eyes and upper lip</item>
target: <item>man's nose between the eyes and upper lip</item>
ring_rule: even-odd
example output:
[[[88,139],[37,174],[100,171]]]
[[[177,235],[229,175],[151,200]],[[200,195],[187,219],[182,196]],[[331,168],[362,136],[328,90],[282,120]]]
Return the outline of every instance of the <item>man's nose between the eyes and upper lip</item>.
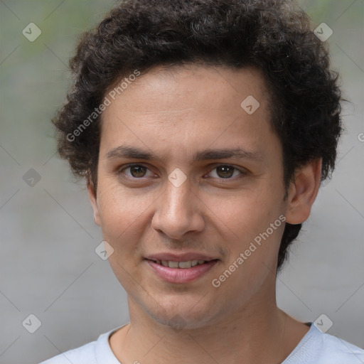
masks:
[[[173,239],[181,239],[186,232],[201,232],[205,227],[203,202],[191,190],[188,179],[181,186],[166,181],[166,190],[156,201],[151,226]]]

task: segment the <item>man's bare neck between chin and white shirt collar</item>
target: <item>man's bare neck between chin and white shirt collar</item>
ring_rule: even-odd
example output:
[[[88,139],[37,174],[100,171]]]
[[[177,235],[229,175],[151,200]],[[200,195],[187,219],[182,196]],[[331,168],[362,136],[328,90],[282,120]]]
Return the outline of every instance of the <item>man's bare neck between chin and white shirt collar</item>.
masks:
[[[282,363],[309,328],[279,310],[275,297],[264,298],[210,325],[181,331],[129,299],[130,324],[110,338],[110,346],[123,364]]]

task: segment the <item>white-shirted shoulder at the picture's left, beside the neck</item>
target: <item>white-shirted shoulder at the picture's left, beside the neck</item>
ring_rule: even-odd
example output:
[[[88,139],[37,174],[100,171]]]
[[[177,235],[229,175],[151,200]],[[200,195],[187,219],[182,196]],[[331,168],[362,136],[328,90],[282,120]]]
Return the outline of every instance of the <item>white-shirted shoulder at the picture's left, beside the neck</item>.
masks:
[[[122,326],[121,326],[122,327]],[[120,327],[107,333],[102,333],[96,341],[87,343],[79,348],[65,351],[40,364],[114,364],[119,363],[109,346],[109,336]],[[101,361],[100,361],[101,360]]]

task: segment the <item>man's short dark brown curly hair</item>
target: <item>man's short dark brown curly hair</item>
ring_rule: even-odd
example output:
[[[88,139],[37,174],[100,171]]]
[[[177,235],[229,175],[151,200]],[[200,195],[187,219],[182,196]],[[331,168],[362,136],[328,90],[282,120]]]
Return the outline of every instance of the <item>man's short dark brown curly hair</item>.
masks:
[[[134,70],[188,63],[262,71],[270,122],[282,143],[285,198],[294,172],[309,161],[322,159],[321,180],[329,177],[343,130],[338,73],[309,17],[290,0],[119,1],[82,34],[70,59],[73,87],[52,119],[58,154],[74,175],[96,192],[100,115],[77,137],[74,131],[113,85]],[[300,230],[286,223],[277,272]]]

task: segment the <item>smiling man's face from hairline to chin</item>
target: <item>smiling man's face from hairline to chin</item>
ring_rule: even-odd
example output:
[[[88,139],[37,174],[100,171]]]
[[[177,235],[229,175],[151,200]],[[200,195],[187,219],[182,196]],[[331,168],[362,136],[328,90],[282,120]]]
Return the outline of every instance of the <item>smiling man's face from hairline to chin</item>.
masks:
[[[110,100],[89,193],[129,304],[196,328],[266,301],[287,203],[262,75],[154,68]]]

